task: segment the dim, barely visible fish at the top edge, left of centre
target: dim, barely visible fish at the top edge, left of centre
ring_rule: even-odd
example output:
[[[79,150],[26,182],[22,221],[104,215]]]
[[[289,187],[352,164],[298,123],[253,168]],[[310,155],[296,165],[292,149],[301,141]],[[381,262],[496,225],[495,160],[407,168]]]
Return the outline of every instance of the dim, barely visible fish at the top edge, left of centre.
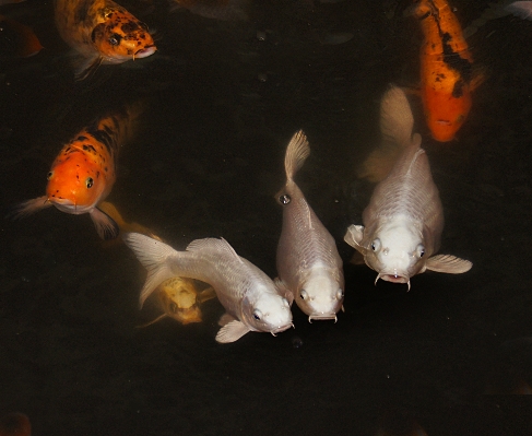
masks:
[[[173,0],[174,10],[188,9],[190,12],[222,21],[245,21],[248,15],[245,12],[249,0]]]

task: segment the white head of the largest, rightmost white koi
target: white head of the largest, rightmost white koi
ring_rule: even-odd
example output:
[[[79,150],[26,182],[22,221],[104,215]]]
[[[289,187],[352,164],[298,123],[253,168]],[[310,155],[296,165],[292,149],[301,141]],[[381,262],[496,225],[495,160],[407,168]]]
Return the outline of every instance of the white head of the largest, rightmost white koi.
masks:
[[[415,226],[398,225],[373,236],[366,247],[366,264],[378,272],[377,280],[407,283],[410,290],[410,279],[425,271],[429,257],[423,233]]]

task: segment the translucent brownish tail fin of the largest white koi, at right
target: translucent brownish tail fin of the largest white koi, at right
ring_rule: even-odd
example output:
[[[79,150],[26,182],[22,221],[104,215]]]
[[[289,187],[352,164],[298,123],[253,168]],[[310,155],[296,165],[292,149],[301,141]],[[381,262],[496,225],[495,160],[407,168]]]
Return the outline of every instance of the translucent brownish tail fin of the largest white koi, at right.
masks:
[[[414,117],[404,91],[390,86],[380,102],[382,143],[358,169],[358,177],[377,182],[385,179],[401,152],[412,143]]]

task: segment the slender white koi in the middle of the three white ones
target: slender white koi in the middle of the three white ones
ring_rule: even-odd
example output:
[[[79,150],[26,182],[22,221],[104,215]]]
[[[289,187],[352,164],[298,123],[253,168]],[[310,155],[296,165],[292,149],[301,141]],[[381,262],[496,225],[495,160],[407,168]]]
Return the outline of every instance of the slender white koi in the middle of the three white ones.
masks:
[[[277,193],[283,229],[277,245],[277,286],[312,319],[334,319],[344,299],[342,259],[331,234],[308,204],[294,176],[310,154],[300,130],[286,149],[286,185]]]

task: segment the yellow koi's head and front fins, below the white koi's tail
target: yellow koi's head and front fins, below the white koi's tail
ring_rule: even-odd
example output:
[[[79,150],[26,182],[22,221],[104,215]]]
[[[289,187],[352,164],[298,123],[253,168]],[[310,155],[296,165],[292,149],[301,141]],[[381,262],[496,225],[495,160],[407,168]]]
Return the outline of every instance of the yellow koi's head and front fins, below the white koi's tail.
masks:
[[[216,297],[212,287],[198,291],[198,283],[194,280],[179,276],[161,283],[154,294],[164,314],[139,327],[151,326],[166,317],[174,318],[182,325],[201,322],[200,304]]]

